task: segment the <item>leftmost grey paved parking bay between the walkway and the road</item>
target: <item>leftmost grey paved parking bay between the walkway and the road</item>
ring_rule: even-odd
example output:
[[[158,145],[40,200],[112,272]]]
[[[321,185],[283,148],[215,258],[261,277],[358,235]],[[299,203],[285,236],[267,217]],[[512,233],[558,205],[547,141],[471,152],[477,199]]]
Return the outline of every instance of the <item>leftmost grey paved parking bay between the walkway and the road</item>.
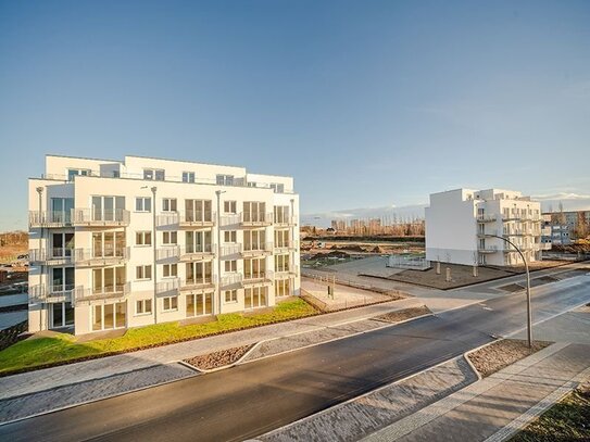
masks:
[[[127,393],[133,390],[198,376],[180,364],[156,365],[106,378],[58,387],[0,401],[0,422]]]

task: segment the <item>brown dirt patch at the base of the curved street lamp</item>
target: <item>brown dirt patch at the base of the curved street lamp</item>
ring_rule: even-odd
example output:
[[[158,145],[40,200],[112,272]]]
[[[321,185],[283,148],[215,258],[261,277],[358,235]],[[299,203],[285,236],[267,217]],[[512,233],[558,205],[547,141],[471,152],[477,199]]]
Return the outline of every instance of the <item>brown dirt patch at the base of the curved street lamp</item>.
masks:
[[[526,341],[519,339],[503,339],[469,353],[467,357],[477,371],[486,378],[517,361],[530,356],[551,343],[552,342],[533,341],[532,348],[529,349]]]

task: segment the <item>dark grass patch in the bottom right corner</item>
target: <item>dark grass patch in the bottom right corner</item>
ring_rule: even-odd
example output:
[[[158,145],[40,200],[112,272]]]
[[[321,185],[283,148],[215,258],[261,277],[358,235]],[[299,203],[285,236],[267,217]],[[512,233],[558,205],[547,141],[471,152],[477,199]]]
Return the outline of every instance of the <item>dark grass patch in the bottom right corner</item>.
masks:
[[[574,390],[511,442],[590,441],[590,389]]]

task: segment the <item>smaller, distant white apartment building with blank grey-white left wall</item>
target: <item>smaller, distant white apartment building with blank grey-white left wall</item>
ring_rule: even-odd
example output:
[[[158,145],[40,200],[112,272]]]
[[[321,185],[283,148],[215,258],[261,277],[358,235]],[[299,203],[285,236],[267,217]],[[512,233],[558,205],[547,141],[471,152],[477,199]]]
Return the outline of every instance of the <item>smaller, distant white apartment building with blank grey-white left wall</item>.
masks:
[[[426,260],[510,266],[540,261],[541,204],[512,190],[457,189],[430,194],[426,207]],[[494,237],[495,236],[495,237]],[[501,237],[501,238],[497,238]]]

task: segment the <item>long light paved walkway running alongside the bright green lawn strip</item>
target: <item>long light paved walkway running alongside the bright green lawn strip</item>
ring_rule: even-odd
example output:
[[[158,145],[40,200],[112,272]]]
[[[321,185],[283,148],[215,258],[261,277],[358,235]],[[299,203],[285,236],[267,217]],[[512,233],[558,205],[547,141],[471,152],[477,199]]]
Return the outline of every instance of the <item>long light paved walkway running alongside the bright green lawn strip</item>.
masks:
[[[263,340],[319,330],[379,316],[388,312],[422,305],[415,299],[369,305],[350,311],[318,315],[288,323],[274,324],[193,341],[181,342],[139,352],[102,357],[76,364],[46,368],[0,378],[0,400],[76,382],[108,378],[148,367],[185,359],[200,354],[234,346],[249,345]]]

